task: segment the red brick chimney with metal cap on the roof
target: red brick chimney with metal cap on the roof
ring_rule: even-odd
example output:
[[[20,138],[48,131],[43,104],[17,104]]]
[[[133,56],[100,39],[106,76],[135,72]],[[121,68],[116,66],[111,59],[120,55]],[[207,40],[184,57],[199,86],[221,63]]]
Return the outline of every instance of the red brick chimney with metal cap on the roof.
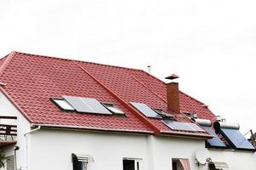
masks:
[[[179,90],[177,75],[172,74],[166,79],[172,80],[172,82],[167,83],[167,106],[168,110],[173,111],[174,113],[180,113],[179,108]]]

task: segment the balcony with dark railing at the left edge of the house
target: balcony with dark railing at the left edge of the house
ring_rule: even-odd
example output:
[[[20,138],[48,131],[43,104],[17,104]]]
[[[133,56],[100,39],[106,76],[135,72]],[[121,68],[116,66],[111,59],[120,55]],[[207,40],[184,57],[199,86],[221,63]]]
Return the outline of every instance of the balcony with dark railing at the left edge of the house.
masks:
[[[0,116],[0,147],[16,144],[16,116]]]

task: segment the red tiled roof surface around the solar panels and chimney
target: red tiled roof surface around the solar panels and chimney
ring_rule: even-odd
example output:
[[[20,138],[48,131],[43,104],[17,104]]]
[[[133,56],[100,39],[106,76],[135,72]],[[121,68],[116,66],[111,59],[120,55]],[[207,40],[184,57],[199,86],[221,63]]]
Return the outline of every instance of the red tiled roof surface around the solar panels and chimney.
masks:
[[[207,136],[207,133],[173,131],[159,119],[143,116],[129,105],[141,102],[166,111],[166,83],[145,71],[95,63],[57,59],[12,52],[0,60],[3,92],[26,118],[37,124],[116,129],[147,133],[174,133]],[[71,95],[112,103],[125,111],[126,117],[78,114],[61,111],[50,98]],[[180,92],[182,111],[200,118],[215,116],[203,104]],[[190,122],[182,114],[177,121]]]

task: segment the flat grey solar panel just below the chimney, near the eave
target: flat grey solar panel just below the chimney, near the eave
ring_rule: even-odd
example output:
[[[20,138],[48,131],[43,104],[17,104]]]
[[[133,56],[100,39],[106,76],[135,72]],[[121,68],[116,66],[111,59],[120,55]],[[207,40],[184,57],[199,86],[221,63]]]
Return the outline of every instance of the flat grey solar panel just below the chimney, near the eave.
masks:
[[[184,130],[191,132],[205,132],[201,127],[198,127],[196,124],[191,122],[172,122],[172,121],[163,121],[168,127],[172,130]]]

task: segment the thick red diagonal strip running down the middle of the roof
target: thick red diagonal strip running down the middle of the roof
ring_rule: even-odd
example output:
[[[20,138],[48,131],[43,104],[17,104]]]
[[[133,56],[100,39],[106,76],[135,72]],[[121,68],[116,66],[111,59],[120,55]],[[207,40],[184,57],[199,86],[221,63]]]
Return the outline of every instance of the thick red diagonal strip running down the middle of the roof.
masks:
[[[75,62],[75,64],[79,65],[79,63]],[[102,88],[104,88],[105,90],[108,91],[109,94],[111,94],[115,99],[117,99],[120,103],[122,103],[123,105],[125,105],[125,107],[130,110],[136,117],[137,119],[139,119],[141,122],[143,122],[143,124],[145,124],[147,127],[149,127],[150,129],[152,129],[154,131],[154,133],[159,134],[160,133],[160,129],[156,126],[154,126],[154,124],[152,122],[149,122],[145,117],[143,117],[141,114],[139,114],[135,109],[133,109],[130,105],[128,105],[124,99],[121,99],[117,94],[115,94],[110,88],[108,88],[107,86],[105,86],[102,82],[100,82],[96,77],[94,77],[93,75],[90,74],[89,71],[85,70],[84,67],[82,65],[79,65],[79,67],[86,73],[88,74],[91,78],[93,78],[98,84],[100,84],[102,86]]]

